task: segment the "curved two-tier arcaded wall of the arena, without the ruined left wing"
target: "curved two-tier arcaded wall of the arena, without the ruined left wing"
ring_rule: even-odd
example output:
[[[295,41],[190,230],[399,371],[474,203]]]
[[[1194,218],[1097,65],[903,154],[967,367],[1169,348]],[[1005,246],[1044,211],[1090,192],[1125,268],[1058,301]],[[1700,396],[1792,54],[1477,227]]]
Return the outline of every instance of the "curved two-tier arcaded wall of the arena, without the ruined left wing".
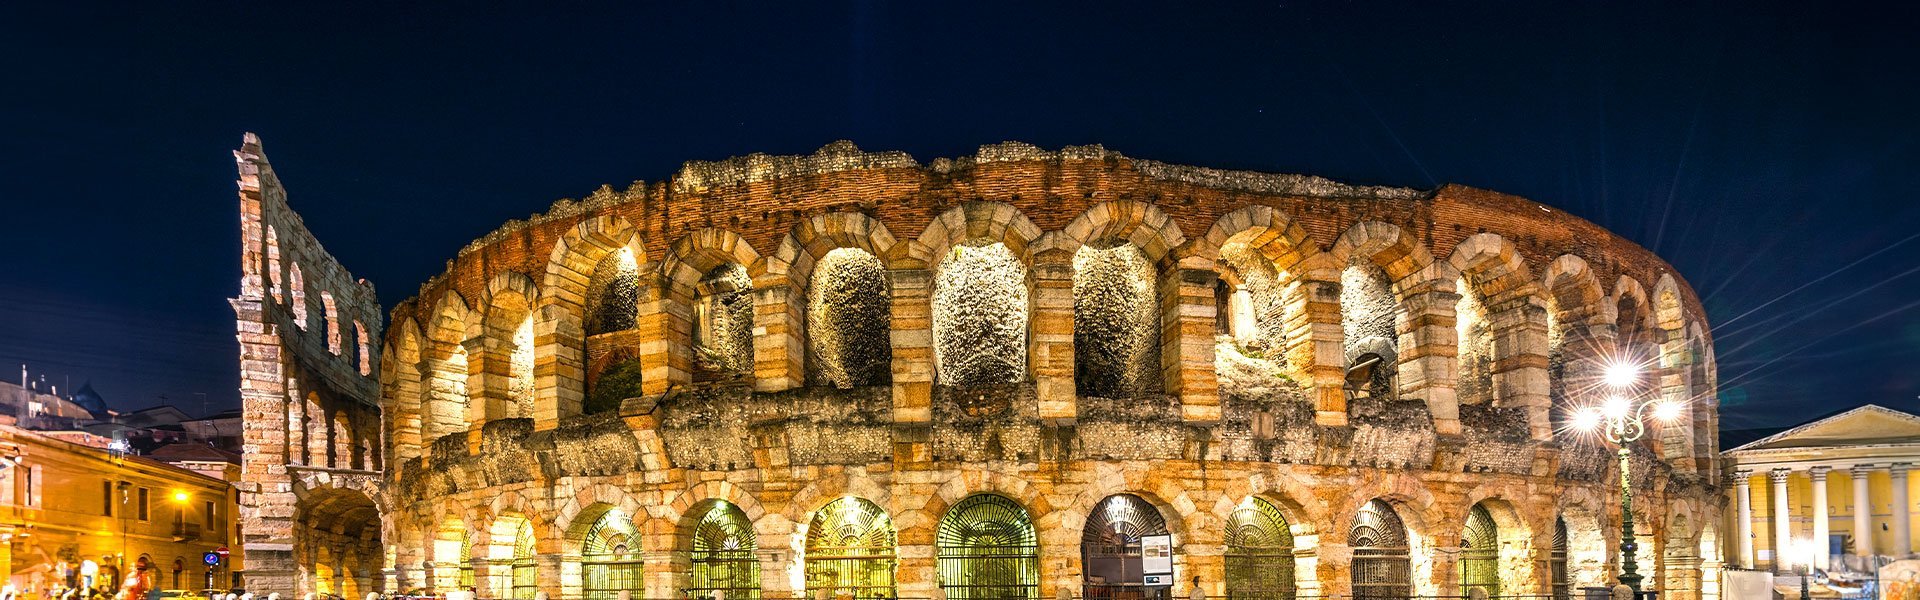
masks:
[[[897,592],[925,598],[935,527],[975,492],[1031,513],[1041,596],[1079,590],[1081,527],[1119,492],[1177,537],[1181,596],[1192,577],[1227,592],[1223,523],[1256,496],[1292,525],[1302,594],[1352,592],[1346,531],[1373,498],[1407,521],[1417,594],[1459,594],[1452,548],[1475,504],[1500,527],[1503,590],[1548,590],[1555,519],[1574,587],[1601,585],[1613,462],[1551,427],[1555,387],[1592,402],[1557,379],[1620,346],[1663,354],[1647,392],[1699,400],[1690,427],[1632,454],[1644,548],[1697,546],[1682,523],[1720,513],[1711,338],[1670,271],[1582,219],[1452,185],[1098,146],[922,165],[837,142],[687,163],[507,223],[392,312],[386,587],[451,588],[463,544],[499,548],[493,525],[526,519],[540,587],[576,598],[584,531],[620,513],[636,594],[680,596],[697,508],[724,500],[758,538],[760,588],[791,598],[804,523],[856,496],[899,527]],[[495,365],[518,362],[503,352],[518,333],[488,323],[522,304],[534,410],[495,415],[488,402],[524,383]],[[636,375],[588,413],[612,356]],[[1711,588],[1684,583],[1716,565],[1642,556],[1672,598]]]

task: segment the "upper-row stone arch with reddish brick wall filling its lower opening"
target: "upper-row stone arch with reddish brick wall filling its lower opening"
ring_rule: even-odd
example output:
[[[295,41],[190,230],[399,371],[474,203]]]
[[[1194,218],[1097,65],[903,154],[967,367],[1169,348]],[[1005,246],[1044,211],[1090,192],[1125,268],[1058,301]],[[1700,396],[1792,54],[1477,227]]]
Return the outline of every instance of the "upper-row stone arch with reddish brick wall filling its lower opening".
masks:
[[[597,267],[614,252],[634,256],[636,277],[647,271],[647,246],[632,223],[618,215],[591,215],[566,229],[547,256],[547,267],[540,281],[540,315],[536,319],[538,350],[536,375],[536,417],[538,429],[559,425],[561,417],[578,415],[588,396],[588,365],[595,356],[605,354],[601,344],[589,342],[588,287],[597,275]],[[641,279],[643,281],[643,279]],[[643,310],[651,302],[651,290],[636,283],[636,319],[660,319],[657,308]],[[647,313],[641,317],[641,313]],[[603,340],[609,350],[624,348],[620,338]],[[664,354],[657,358],[666,365]],[[664,377],[664,373],[662,373]],[[664,390],[664,387],[660,387]]]

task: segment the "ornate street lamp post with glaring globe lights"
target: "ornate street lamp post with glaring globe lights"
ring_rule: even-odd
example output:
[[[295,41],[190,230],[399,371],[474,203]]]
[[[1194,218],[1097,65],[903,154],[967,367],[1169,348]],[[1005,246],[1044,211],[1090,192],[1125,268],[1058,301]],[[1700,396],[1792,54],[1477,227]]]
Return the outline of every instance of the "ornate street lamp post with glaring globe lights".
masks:
[[[1605,385],[1613,394],[1601,406],[1588,406],[1574,413],[1574,429],[1597,429],[1609,442],[1619,446],[1615,454],[1620,460],[1620,585],[1632,588],[1634,594],[1640,594],[1640,581],[1644,577],[1638,573],[1640,563],[1634,560],[1640,544],[1634,542],[1632,444],[1645,437],[1647,417],[1655,423],[1667,423],[1680,415],[1678,402],[1632,400],[1622,396],[1638,381],[1638,365],[1619,363],[1607,367]]]

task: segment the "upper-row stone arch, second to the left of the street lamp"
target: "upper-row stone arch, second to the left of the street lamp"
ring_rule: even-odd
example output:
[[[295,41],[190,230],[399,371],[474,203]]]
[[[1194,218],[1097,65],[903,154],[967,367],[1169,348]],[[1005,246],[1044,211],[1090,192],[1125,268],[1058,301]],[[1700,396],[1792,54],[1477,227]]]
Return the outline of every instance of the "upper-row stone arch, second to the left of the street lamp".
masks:
[[[1457,277],[1459,294],[1455,398],[1463,406],[1523,410],[1528,435],[1549,438],[1548,312],[1521,250],[1500,235],[1480,233],[1453,246],[1448,271]]]

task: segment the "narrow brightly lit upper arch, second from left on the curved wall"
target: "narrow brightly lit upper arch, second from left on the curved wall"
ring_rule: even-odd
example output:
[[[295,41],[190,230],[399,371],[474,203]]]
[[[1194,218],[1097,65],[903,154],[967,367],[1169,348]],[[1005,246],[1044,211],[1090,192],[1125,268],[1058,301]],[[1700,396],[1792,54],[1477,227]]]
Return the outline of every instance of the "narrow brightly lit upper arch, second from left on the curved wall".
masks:
[[[470,323],[472,312],[467,308],[467,298],[451,288],[430,310],[420,360],[420,371],[426,377],[420,433],[426,444],[467,429],[467,406],[472,400],[468,394],[472,362],[467,356]]]

